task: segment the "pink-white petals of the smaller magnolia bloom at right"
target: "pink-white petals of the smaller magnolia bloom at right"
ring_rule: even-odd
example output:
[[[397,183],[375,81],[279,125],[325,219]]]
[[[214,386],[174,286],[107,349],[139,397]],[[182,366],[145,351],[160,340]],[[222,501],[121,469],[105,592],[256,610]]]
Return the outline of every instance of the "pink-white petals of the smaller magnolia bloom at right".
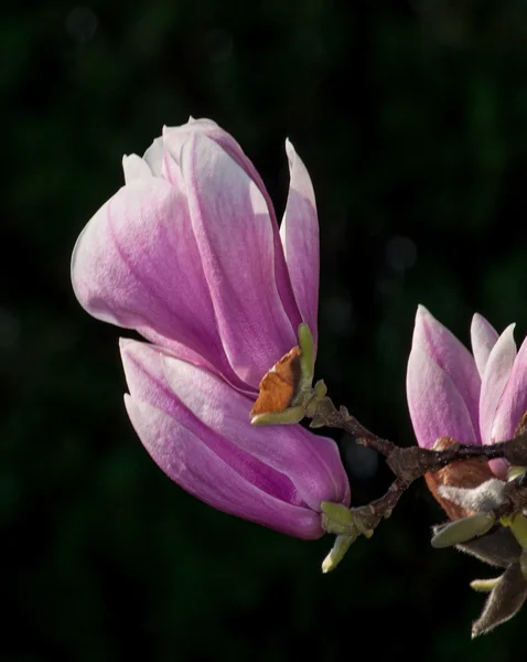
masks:
[[[420,306],[408,360],[407,396],[419,446],[440,437],[464,444],[510,439],[527,410],[527,341],[514,324],[499,335],[480,314],[472,320],[473,354]],[[503,460],[491,468],[506,477]]]

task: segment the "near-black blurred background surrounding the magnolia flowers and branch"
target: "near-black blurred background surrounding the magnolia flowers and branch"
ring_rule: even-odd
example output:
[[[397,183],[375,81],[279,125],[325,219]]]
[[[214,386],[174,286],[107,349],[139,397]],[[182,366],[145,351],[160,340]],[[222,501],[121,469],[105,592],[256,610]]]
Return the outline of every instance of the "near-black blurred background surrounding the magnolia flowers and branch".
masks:
[[[329,576],[330,537],[171,483],[123,410],[130,333],[80,309],[68,270],[122,154],[163,124],[218,121],[279,215],[289,136],[320,212],[318,375],[412,442],[419,302],[464,342],[474,311],[527,331],[527,1],[19,3],[0,44],[2,662],[521,659],[525,609],[470,642],[469,581],[493,570],[430,548],[443,515],[423,483]],[[383,462],[342,449],[354,502],[380,495]]]

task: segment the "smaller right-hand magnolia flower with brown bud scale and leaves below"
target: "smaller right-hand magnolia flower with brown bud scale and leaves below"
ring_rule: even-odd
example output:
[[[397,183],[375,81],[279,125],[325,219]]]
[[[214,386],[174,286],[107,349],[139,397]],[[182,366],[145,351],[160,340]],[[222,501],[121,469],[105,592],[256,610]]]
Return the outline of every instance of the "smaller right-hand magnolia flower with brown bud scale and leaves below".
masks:
[[[454,440],[481,445],[515,436],[527,410],[527,341],[517,351],[513,331],[510,324],[498,335],[475,314],[471,354],[419,307],[407,374],[419,446],[441,449]],[[473,637],[510,619],[527,598],[524,515],[517,513],[501,526],[492,514],[503,503],[507,469],[504,460],[465,460],[426,477],[432,494],[455,521],[434,528],[432,545],[463,541],[458,548],[503,570],[494,579],[471,584],[488,594],[473,623]]]

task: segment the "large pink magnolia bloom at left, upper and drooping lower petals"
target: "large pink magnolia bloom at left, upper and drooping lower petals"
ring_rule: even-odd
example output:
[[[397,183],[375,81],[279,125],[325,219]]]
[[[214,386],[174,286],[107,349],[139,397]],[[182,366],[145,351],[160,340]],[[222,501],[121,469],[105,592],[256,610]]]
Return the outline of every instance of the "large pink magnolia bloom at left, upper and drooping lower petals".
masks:
[[[300,426],[255,428],[267,371],[316,342],[319,224],[308,171],[286,143],[291,183],[280,232],[239,145],[211,120],[165,128],[125,157],[126,185],[80,234],[72,280],[121,340],[126,407],[142,444],[183,489],[218,510],[303,538],[321,503],[348,504],[334,441]]]

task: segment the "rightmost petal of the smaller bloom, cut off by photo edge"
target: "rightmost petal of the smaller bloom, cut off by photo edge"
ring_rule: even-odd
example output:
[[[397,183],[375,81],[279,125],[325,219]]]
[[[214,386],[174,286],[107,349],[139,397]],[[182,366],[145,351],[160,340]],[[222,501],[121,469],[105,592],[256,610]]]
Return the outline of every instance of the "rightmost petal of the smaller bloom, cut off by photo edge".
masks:
[[[507,385],[497,406],[492,427],[492,441],[514,437],[516,427],[527,412],[527,339],[519,348]]]

